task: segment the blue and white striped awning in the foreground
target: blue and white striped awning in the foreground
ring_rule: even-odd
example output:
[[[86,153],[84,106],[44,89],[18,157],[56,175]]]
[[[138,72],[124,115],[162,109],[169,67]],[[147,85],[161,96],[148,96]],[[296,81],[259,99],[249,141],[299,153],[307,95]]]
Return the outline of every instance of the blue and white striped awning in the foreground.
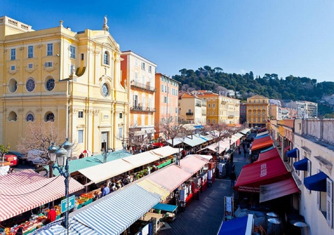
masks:
[[[70,214],[70,234],[121,234],[130,225],[160,202],[160,195],[152,194],[138,185],[114,192]],[[57,222],[57,221],[55,221]],[[60,223],[51,223],[35,234],[65,234]]]

